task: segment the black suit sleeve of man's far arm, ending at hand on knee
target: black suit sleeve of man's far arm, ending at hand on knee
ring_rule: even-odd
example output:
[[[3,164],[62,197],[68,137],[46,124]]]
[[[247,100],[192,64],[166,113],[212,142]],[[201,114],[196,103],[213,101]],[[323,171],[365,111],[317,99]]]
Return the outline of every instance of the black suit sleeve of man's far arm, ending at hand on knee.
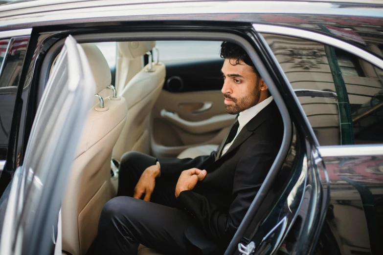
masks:
[[[158,158],[161,166],[161,176],[180,175],[183,170],[191,168],[205,169],[213,164],[217,151],[213,151],[210,155],[198,156],[195,158]]]

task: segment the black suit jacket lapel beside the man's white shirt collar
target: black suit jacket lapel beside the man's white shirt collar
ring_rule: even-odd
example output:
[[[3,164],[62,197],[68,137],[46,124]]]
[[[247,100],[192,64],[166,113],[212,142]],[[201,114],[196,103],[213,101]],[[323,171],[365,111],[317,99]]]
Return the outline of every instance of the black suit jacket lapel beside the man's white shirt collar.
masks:
[[[257,115],[252,118],[248,124],[245,125],[245,127],[242,128],[242,130],[239,132],[238,136],[235,138],[234,142],[231,144],[230,148],[226,151],[222,157],[218,158],[216,161],[221,160],[222,158],[225,158],[230,151],[240,146],[242,143],[244,143],[254,132],[254,130],[259,127],[264,121],[266,121],[270,116],[273,116],[275,114],[275,108],[276,104],[274,101],[271,101],[271,103],[263,108]]]

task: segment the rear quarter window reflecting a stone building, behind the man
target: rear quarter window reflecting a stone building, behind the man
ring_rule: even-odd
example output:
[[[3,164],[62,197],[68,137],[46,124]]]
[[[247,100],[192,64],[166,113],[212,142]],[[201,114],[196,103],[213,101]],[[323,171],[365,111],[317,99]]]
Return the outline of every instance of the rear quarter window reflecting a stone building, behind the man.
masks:
[[[382,69],[322,43],[263,36],[321,146],[383,143]]]

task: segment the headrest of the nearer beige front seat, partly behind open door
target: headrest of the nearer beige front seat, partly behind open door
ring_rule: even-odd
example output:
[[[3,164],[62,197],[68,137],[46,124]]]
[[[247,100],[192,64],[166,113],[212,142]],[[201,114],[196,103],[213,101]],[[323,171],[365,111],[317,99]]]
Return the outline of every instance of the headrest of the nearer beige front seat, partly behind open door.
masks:
[[[96,82],[96,94],[111,85],[112,74],[109,64],[101,50],[94,43],[80,44],[87,55],[94,81]]]

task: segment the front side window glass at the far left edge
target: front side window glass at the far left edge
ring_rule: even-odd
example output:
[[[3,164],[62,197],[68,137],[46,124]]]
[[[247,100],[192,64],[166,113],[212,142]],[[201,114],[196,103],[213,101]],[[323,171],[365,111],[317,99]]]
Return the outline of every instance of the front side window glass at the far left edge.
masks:
[[[29,36],[0,40],[0,160],[5,160]]]

